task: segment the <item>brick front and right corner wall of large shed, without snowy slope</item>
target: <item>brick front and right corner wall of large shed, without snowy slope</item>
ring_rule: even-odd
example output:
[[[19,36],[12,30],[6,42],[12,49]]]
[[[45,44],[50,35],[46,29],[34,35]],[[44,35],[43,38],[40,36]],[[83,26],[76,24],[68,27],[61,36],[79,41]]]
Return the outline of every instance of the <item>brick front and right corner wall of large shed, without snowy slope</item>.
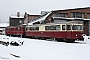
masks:
[[[84,33],[90,35],[90,20],[88,20],[90,19],[90,7],[52,11],[52,13],[45,19],[45,23],[52,22],[53,17],[82,18]],[[83,20],[83,18],[85,20]],[[77,20],[80,21],[81,19]]]

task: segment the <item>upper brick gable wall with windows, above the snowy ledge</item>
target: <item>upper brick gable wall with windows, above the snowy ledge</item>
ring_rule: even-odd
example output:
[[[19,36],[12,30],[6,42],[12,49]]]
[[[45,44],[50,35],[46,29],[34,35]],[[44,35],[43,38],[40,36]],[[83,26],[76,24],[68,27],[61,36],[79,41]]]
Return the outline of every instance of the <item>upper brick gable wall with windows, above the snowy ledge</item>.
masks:
[[[52,13],[46,18],[46,22],[50,22],[52,17],[90,19],[90,7],[52,11]]]

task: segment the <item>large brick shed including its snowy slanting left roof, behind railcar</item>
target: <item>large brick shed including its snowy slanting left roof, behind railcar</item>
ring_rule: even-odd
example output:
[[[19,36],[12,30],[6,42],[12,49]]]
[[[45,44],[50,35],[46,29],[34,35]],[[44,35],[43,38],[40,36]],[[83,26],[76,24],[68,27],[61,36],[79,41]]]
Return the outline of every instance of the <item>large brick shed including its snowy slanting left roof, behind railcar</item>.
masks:
[[[55,10],[55,11],[50,11],[50,14],[47,14],[46,16],[41,16],[40,18],[36,19],[34,22],[41,22],[43,21],[44,23],[50,23],[54,22],[56,19],[53,21],[53,17],[63,17],[63,18],[75,18],[74,21],[81,21],[84,24],[84,33],[86,35],[90,35],[90,7],[84,7],[84,8],[74,8],[74,9],[65,9],[65,10]],[[72,21],[69,19],[59,19],[60,21]],[[29,23],[29,24],[32,24]]]

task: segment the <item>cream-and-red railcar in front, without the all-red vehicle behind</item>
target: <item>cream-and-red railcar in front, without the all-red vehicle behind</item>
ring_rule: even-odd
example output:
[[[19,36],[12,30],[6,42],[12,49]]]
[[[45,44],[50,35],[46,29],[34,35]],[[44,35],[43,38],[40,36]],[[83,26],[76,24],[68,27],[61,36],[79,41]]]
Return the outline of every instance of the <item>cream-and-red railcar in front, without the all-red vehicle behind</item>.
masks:
[[[83,24],[63,22],[26,26],[26,36],[53,38],[58,41],[83,40]]]

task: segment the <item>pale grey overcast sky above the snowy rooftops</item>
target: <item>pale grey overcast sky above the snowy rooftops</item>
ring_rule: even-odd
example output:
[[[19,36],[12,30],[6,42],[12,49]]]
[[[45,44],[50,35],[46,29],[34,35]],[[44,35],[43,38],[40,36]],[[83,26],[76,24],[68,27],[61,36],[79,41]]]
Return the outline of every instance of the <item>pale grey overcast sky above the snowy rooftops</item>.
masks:
[[[90,7],[90,0],[0,0],[0,22],[8,22],[17,12],[40,14],[41,11]]]

